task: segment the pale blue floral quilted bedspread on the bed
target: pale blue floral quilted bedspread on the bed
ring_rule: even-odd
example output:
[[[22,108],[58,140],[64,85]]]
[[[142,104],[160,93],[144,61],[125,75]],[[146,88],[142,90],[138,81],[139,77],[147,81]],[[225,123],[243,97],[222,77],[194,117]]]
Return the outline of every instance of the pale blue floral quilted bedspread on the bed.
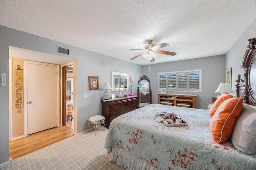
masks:
[[[166,127],[155,120],[160,112],[180,114],[188,126]],[[256,169],[256,154],[241,154],[230,141],[219,145],[213,140],[210,119],[208,110],[150,104],[116,117],[104,147],[123,149],[161,170]]]

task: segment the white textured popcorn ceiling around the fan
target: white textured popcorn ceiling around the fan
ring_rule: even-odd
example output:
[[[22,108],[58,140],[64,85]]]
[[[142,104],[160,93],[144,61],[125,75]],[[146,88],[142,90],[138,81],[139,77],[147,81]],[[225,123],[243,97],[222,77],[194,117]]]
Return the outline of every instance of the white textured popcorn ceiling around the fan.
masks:
[[[0,0],[0,25],[146,65],[226,54],[255,9],[255,0]],[[147,39],[177,55],[130,61]]]

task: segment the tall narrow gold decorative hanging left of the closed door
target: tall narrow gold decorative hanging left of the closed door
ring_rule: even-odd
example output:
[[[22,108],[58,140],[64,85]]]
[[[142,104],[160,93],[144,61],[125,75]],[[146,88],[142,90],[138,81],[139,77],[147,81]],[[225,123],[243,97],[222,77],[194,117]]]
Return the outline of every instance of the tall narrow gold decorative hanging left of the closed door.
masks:
[[[20,65],[15,68],[15,107],[17,107],[18,113],[21,113],[20,108],[23,107],[23,69]]]

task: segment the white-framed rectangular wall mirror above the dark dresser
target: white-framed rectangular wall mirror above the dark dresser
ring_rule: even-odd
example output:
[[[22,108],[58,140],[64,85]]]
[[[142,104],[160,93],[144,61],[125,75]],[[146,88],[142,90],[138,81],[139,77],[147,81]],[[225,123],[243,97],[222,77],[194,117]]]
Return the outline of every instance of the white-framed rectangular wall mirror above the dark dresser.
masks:
[[[112,92],[128,91],[128,76],[129,74],[121,72],[111,72]]]

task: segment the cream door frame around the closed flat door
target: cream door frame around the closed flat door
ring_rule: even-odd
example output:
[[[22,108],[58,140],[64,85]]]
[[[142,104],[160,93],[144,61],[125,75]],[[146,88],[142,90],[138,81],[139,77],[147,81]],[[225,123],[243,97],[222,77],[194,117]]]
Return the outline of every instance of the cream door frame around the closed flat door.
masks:
[[[32,64],[43,64],[47,66],[57,66],[58,69],[58,74],[57,74],[57,80],[60,80],[60,65],[58,64],[48,64],[48,63],[41,63],[41,62],[36,62],[36,61],[26,61],[24,60],[24,136],[28,136],[28,72],[27,72],[27,64],[32,63]],[[60,127],[60,83],[57,84],[57,127]]]

